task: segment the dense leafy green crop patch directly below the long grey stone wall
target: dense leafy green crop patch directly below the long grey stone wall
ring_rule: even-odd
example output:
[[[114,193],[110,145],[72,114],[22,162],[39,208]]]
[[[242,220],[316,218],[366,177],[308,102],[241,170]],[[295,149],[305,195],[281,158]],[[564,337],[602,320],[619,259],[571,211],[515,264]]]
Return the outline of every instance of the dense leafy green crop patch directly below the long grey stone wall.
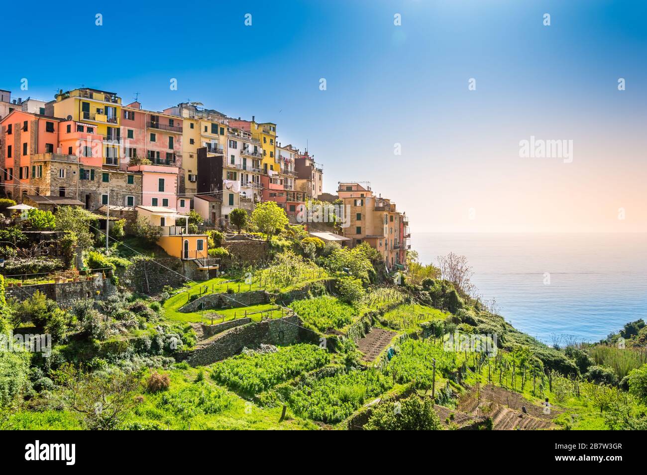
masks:
[[[330,361],[325,349],[311,344],[279,348],[274,353],[242,354],[216,363],[212,378],[247,395],[268,390],[303,371],[312,371]]]

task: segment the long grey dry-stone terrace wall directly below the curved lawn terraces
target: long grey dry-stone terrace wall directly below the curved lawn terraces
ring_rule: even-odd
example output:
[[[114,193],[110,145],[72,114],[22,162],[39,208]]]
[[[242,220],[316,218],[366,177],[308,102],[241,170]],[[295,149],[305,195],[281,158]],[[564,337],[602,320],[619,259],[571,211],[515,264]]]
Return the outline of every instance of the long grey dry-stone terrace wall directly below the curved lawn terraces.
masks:
[[[301,320],[296,315],[252,322],[221,333],[191,351],[178,353],[176,359],[185,360],[191,366],[203,366],[237,355],[246,346],[257,346],[261,343],[293,344],[302,338],[301,326]]]

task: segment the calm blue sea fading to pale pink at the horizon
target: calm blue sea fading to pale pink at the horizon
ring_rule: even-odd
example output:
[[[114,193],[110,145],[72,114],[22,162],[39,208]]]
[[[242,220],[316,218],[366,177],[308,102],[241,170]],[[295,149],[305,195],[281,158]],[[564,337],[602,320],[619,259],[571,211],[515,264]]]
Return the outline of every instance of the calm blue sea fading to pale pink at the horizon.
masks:
[[[597,341],[647,320],[647,234],[412,233],[411,249],[423,263],[466,256],[479,292],[546,343],[553,334]]]

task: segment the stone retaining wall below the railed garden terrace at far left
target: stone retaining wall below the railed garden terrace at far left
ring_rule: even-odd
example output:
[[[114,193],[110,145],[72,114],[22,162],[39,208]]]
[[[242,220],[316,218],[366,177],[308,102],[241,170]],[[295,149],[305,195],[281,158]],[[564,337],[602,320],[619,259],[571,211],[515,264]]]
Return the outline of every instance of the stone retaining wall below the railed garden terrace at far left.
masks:
[[[94,280],[63,283],[41,283],[38,285],[23,285],[22,287],[6,287],[7,298],[15,298],[22,302],[36,291],[45,294],[47,298],[56,300],[61,307],[67,307],[81,298],[93,298],[94,300],[105,300],[109,295],[116,292],[116,287],[110,278],[102,278],[98,274]],[[98,293],[97,293],[98,292]]]

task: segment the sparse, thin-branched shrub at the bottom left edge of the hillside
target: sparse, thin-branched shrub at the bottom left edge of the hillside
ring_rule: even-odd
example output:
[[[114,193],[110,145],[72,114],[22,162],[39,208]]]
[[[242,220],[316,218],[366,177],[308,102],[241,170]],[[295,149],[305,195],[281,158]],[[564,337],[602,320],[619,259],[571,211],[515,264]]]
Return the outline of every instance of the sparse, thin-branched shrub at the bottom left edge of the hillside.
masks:
[[[89,430],[114,430],[135,407],[141,373],[85,373],[70,363],[54,371],[54,381],[63,387],[61,400],[83,416]]]

